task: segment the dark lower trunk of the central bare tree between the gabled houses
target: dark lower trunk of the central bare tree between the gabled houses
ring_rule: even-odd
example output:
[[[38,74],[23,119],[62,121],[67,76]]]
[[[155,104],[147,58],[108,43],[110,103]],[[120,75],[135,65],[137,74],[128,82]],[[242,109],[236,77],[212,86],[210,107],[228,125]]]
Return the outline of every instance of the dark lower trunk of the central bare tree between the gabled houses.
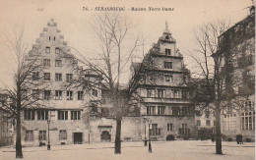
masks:
[[[114,153],[121,154],[121,117],[116,118],[116,132],[114,141]]]

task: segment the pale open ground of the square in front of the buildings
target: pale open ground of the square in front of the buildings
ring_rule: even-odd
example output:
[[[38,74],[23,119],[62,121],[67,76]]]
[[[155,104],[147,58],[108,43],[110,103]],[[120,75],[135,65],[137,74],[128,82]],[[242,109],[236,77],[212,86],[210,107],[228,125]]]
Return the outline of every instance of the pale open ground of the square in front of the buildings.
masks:
[[[148,152],[143,142],[123,142],[122,154],[113,153],[114,143],[91,143],[76,145],[51,146],[47,151],[43,147],[23,148],[24,159],[30,160],[254,160],[255,145],[253,142],[236,144],[223,142],[224,155],[215,154],[215,143],[212,141],[176,140],[153,142],[153,152]],[[0,148],[0,159],[15,159],[14,147]]]

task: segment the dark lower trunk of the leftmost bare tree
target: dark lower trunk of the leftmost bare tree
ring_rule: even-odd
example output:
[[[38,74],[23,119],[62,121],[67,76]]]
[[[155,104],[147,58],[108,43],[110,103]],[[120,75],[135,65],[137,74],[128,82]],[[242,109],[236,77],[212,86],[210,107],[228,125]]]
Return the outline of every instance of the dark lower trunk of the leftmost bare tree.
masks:
[[[17,126],[16,126],[16,158],[23,158],[22,135],[21,135],[21,113],[17,111]]]

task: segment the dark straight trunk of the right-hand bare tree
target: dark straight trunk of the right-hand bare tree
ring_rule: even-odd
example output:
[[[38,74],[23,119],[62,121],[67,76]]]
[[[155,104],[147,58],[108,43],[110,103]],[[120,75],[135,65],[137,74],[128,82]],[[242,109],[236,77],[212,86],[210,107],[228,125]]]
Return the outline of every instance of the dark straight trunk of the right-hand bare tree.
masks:
[[[216,103],[216,154],[223,154],[220,102]]]

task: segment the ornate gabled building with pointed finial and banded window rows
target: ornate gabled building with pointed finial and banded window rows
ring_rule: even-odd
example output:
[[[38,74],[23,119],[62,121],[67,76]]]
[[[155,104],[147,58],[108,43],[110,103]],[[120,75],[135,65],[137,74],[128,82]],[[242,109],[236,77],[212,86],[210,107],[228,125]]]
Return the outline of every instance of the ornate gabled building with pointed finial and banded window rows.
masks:
[[[184,67],[183,56],[167,23],[158,43],[144,57],[145,62],[152,65],[146,69],[147,76],[140,81],[138,92],[143,99],[141,117],[152,121],[151,138],[191,137],[195,130],[195,108],[189,100],[186,85],[190,80],[189,71]],[[142,133],[148,134],[148,125],[146,122],[142,124],[146,125]]]

